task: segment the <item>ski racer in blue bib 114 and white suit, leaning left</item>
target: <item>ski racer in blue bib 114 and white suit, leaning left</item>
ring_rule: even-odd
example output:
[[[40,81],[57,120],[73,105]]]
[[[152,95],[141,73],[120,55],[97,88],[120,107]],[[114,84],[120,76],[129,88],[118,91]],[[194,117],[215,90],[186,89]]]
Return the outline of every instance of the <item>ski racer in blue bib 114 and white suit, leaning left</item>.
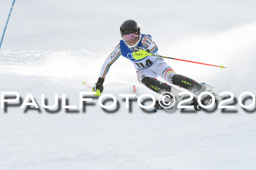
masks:
[[[195,80],[176,74],[173,68],[162,58],[146,56],[143,59],[135,60],[132,53],[140,50],[159,55],[157,52],[158,47],[152,40],[151,35],[140,33],[140,25],[137,21],[132,19],[125,20],[120,26],[120,32],[123,40],[120,40],[120,43],[117,44],[114,51],[103,63],[98,81],[93,86],[93,91],[99,90],[101,93],[103,92],[105,76],[108,73],[110,66],[121,55],[133,63],[137,71],[138,81],[158,94],[170,92],[174,97],[178,97],[178,94],[182,92],[167,83],[185,88],[195,95],[199,95],[203,91],[209,91],[206,86],[197,83]],[[167,83],[157,80],[158,76],[163,78]],[[172,98],[172,96],[169,96],[169,98]]]

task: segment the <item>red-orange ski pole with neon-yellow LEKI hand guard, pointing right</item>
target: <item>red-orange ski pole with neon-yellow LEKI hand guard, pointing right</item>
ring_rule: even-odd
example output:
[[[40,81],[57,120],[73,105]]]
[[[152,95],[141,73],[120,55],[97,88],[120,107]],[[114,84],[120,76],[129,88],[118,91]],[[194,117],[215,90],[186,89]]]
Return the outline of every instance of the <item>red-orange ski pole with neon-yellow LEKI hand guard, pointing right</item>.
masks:
[[[167,59],[179,60],[179,61],[182,61],[182,62],[189,62],[189,63],[203,64],[203,65],[207,65],[207,66],[221,67],[221,69],[227,68],[227,67],[223,67],[223,65],[215,66],[215,65],[212,65],[212,64],[205,64],[205,63],[193,62],[193,61],[189,61],[189,60],[182,60],[182,59],[176,59],[176,58],[171,58],[171,57],[166,57],[166,56],[161,56],[161,55],[155,55],[155,54],[148,53],[145,50],[140,50],[138,52],[133,52],[132,55],[133,55],[133,58],[135,60],[140,60],[140,59],[145,58],[148,55],[152,55],[152,56],[156,56],[156,57],[162,57],[162,58],[167,58]]]

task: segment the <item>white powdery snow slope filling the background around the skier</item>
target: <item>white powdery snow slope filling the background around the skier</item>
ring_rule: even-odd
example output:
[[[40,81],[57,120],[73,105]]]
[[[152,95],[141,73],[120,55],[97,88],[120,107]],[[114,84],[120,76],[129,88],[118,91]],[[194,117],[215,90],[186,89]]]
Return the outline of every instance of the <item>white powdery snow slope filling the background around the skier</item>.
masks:
[[[12,1],[0,1],[0,31]],[[119,94],[149,93],[132,64],[120,57],[104,93],[120,103],[108,113],[97,99],[79,109],[79,92],[90,91],[104,60],[120,40],[120,24],[136,19],[159,53],[227,69],[165,60],[176,73],[230,91],[254,95],[255,1],[16,1],[0,51],[0,90],[32,94],[40,111],[0,109],[0,169],[256,169],[255,105],[238,103],[224,113],[181,110],[146,113]],[[47,112],[41,94],[54,102],[66,95],[78,112]],[[251,101],[247,101],[249,105]],[[111,104],[108,102],[107,104]],[[30,107],[33,108],[33,107]]]

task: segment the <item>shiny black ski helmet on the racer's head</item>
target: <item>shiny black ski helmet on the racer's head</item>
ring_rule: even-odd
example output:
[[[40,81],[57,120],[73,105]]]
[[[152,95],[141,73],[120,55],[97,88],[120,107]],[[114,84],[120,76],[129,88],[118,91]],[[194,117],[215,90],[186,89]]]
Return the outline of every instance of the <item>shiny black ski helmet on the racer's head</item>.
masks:
[[[140,35],[140,25],[137,21],[133,19],[125,20],[120,26],[120,33],[122,37],[123,35],[135,32],[138,32],[138,34]]]

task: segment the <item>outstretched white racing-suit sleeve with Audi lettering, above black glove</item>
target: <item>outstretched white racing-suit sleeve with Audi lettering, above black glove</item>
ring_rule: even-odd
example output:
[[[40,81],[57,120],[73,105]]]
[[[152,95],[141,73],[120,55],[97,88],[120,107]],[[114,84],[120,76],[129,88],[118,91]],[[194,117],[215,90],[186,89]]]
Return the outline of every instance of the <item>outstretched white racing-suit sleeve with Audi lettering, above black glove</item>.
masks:
[[[120,57],[120,55],[121,55],[120,44],[118,44],[115,47],[114,51],[109,55],[109,57],[103,63],[99,77],[105,78],[106,74],[109,71],[110,66]]]

